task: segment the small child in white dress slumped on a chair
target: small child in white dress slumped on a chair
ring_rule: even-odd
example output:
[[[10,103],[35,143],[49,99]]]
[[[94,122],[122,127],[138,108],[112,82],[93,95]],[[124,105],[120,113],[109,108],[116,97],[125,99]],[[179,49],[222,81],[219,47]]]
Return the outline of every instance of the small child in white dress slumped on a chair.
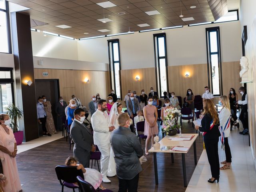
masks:
[[[95,169],[91,168],[84,168],[82,164],[78,164],[77,160],[74,157],[68,157],[65,161],[65,165],[67,166],[77,166],[78,170],[82,170],[84,174],[84,180],[90,183],[94,189],[96,190],[97,188],[104,190],[106,189],[104,186],[102,186],[102,174],[98,172]],[[77,184],[77,183],[75,183]]]

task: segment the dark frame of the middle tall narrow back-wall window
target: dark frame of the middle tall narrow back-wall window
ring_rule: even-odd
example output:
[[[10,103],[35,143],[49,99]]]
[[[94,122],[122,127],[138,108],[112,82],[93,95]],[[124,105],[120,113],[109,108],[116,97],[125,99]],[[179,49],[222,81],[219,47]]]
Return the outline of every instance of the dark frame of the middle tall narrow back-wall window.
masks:
[[[158,38],[162,38],[162,37],[164,38],[164,54],[165,54],[165,56],[159,56]],[[155,40],[155,38],[156,38],[156,40]],[[153,40],[154,40],[154,57],[155,57],[155,68],[156,68],[156,89],[158,91],[158,97],[164,98],[164,96],[162,96],[162,90],[161,90],[160,59],[165,59],[166,88],[167,88],[166,91],[169,92],[166,33],[153,34]],[[157,54],[156,54],[156,48],[157,48]],[[157,70],[157,68],[158,68],[158,70]]]

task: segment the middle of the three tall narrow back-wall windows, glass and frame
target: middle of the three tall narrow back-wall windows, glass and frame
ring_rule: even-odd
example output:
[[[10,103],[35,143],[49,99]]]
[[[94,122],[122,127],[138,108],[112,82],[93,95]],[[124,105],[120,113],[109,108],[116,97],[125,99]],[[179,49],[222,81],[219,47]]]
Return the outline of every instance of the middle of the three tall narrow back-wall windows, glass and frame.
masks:
[[[164,92],[168,91],[167,72],[167,51],[166,34],[154,34],[155,66],[157,90],[160,97],[164,97]]]

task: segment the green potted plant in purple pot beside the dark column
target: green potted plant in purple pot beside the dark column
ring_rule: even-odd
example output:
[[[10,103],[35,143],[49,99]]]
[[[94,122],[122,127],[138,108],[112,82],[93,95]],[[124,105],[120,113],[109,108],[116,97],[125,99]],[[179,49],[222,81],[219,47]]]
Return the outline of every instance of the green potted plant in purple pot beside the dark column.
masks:
[[[11,123],[9,125],[12,128],[14,137],[16,139],[17,145],[22,144],[23,141],[23,131],[19,131],[18,120],[22,118],[23,112],[16,107],[12,102],[8,103],[8,106],[4,108],[7,114],[10,116]]]

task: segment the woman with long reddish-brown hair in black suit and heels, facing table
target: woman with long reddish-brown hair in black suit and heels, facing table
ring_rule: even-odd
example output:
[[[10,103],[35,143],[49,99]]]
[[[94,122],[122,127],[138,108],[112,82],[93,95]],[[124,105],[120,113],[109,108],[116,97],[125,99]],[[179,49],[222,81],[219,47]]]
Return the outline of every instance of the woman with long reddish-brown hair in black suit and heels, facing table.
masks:
[[[203,132],[204,145],[210,164],[212,178],[208,180],[209,183],[214,183],[215,180],[219,182],[220,178],[220,162],[218,155],[218,141],[220,137],[219,132],[219,118],[212,100],[204,100],[204,117],[201,121],[202,127],[195,128]]]

